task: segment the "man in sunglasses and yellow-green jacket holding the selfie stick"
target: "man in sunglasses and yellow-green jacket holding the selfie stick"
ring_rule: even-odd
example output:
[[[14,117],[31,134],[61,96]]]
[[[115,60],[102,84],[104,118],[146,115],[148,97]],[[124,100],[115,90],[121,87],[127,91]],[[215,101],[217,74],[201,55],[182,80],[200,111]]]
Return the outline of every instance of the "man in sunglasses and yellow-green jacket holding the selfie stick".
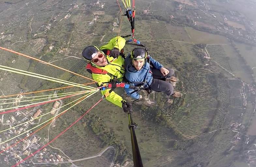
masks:
[[[100,48],[87,46],[83,49],[82,56],[88,62],[86,70],[92,74],[92,78],[97,81],[98,86],[102,86],[104,83],[111,83],[113,80],[123,81],[125,59],[120,52],[125,44],[126,40],[117,36]],[[108,93],[110,93],[106,97],[108,101],[123,108],[125,112],[131,110],[131,104],[114,91],[104,88],[101,90],[102,95]]]

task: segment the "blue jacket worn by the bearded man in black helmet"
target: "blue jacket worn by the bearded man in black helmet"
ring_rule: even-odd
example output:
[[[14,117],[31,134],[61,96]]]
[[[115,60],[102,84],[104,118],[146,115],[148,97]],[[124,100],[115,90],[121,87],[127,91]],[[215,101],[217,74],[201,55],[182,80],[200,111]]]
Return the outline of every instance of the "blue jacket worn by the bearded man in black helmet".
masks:
[[[138,83],[134,83],[134,82],[145,82],[144,86],[146,88],[149,88],[153,80],[150,65],[152,65],[158,70],[160,70],[163,67],[162,64],[160,64],[158,61],[156,61],[155,59],[153,59],[151,56],[148,55],[148,58],[146,59],[146,63],[144,64],[142,69],[138,71],[132,65],[132,60],[129,54],[125,59],[125,78],[130,82],[130,84],[134,86],[139,85]],[[133,89],[126,88],[125,91],[132,98],[135,98],[135,99],[140,98],[140,95],[137,92],[132,93],[134,91]]]

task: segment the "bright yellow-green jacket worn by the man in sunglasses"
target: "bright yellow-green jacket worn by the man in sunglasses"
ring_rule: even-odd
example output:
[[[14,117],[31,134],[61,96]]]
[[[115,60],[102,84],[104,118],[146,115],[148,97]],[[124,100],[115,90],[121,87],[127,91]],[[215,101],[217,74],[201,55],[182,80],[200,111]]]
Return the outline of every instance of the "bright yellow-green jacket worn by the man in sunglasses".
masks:
[[[115,48],[118,48],[119,51],[121,51],[121,49],[124,48],[125,43],[126,43],[126,40],[124,38],[117,36],[111,39],[108,44],[101,46],[100,49],[112,50],[115,47]],[[110,57],[110,56],[106,56],[106,58],[108,62],[111,62],[114,59],[113,57]],[[125,63],[124,58],[122,56],[118,56],[117,59],[115,59],[113,62],[109,63],[104,67],[96,66],[99,69],[106,70],[108,74],[92,73],[92,77],[95,81],[98,82],[98,85],[112,82],[113,79],[122,81],[125,74],[124,63]],[[110,89],[102,90],[101,94],[105,95],[108,91],[110,91]],[[123,98],[117,95],[114,91],[112,91],[110,95],[106,97],[106,99],[111,103],[119,107],[122,107]]]

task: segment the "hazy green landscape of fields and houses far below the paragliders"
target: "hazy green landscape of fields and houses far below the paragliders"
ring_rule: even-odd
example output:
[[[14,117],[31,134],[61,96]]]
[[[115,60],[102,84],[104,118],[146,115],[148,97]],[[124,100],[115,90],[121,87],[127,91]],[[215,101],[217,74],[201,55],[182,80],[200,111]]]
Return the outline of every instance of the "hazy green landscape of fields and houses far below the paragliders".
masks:
[[[256,0],[135,5],[134,37],[183,93],[133,104],[144,167],[256,167]],[[122,108],[102,100],[69,128],[102,97],[83,48],[131,34],[124,13],[119,0],[0,0],[0,166],[133,166]]]

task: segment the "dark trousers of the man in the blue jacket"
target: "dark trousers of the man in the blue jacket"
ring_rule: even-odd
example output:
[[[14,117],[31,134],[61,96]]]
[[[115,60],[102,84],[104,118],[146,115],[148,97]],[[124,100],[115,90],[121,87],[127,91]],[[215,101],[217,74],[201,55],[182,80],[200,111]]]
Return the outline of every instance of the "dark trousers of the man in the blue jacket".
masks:
[[[150,88],[156,92],[164,92],[167,96],[173,94],[173,85],[169,82],[166,82],[166,78],[172,77],[174,74],[173,69],[167,68],[169,73],[165,76],[161,73],[160,70],[152,68],[153,80],[150,85]]]

